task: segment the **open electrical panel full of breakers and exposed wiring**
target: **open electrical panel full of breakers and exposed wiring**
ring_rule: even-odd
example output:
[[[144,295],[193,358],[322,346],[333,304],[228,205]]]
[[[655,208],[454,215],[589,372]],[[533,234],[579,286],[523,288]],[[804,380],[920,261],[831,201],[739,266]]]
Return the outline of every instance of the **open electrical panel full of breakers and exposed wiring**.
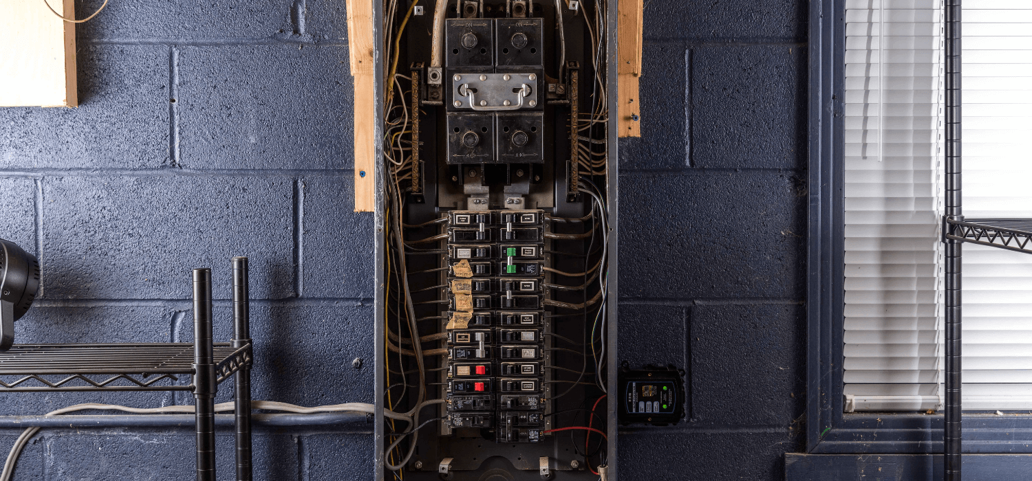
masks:
[[[615,452],[612,14],[384,4],[378,369],[412,418],[382,426],[385,479],[594,480]]]

